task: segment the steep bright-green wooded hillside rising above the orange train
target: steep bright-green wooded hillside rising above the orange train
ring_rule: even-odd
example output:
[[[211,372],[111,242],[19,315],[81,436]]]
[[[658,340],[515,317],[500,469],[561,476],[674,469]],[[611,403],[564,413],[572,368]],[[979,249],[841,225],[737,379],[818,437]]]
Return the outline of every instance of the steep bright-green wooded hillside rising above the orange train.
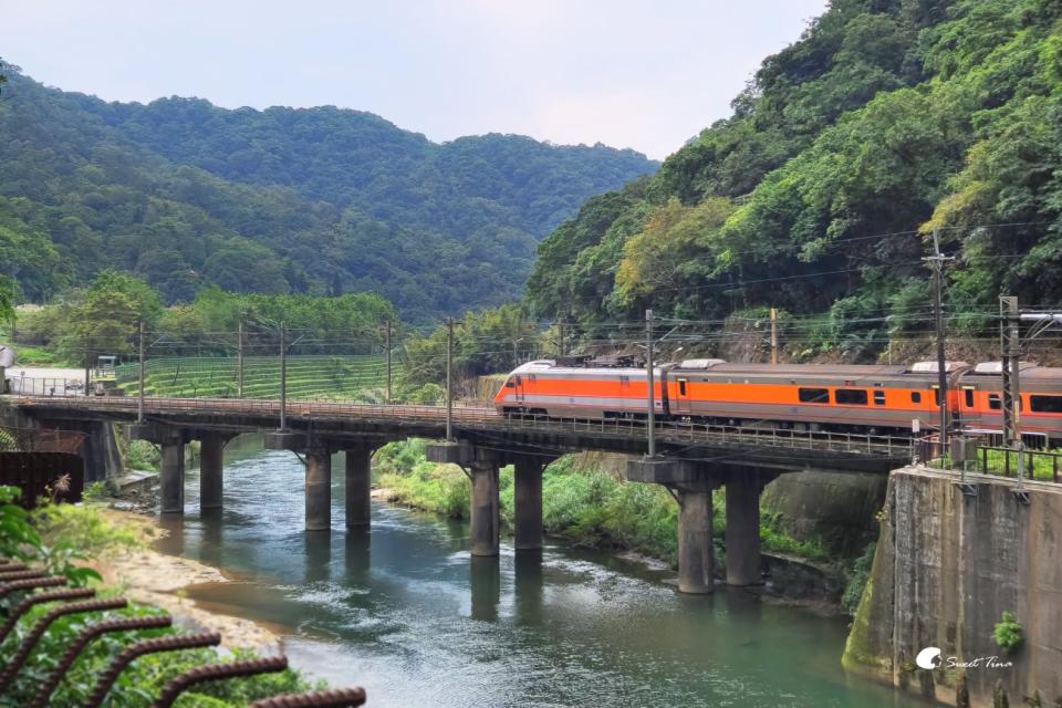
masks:
[[[778,306],[881,341],[918,326],[939,229],[956,313],[1058,304],[1060,18],[1059,0],[834,0],[731,117],[543,241],[529,301],[585,324]]]

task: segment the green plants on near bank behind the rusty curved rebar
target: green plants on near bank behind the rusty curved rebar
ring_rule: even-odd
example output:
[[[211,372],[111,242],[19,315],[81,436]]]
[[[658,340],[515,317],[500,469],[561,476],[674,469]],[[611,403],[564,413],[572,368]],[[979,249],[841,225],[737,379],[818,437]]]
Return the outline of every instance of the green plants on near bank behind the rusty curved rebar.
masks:
[[[97,596],[121,594],[121,589],[101,585],[100,575],[83,563],[88,559],[105,556],[121,549],[136,546],[139,534],[125,525],[103,517],[91,504],[45,506],[27,512],[13,504],[18,490],[0,487],[0,555],[40,566],[49,572],[63,574],[74,585],[91,585]],[[9,611],[18,597],[0,601],[0,607]],[[53,605],[38,605],[27,613],[14,631],[0,644],[0,657],[10,657],[17,650],[28,631]],[[135,617],[160,614],[156,607],[131,604],[125,610],[67,615],[49,625],[17,679],[0,697],[0,706],[28,705],[37,695],[40,684],[54,666],[55,659],[70,646],[73,637],[87,624],[104,617]],[[177,629],[149,629],[108,633],[95,639],[82,652],[66,677],[52,695],[50,706],[59,708],[82,706],[95,685],[100,673],[123,647],[150,637],[176,634]],[[240,650],[238,657],[250,657]],[[162,687],[171,678],[206,664],[231,660],[216,649],[192,649],[153,654],[137,659],[121,675],[111,689],[110,705],[126,708],[146,707],[152,704]],[[253,700],[284,693],[310,689],[310,684],[295,670],[257,676],[239,680],[210,681],[188,691],[178,699],[177,706],[202,706],[226,708],[247,706]]]

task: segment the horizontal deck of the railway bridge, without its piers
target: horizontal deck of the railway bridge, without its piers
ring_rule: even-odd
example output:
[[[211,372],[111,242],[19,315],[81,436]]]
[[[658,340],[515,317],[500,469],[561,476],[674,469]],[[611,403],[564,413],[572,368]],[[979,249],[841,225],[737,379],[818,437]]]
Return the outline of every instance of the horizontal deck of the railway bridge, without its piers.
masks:
[[[22,396],[8,397],[23,412],[42,418],[102,418],[132,420],[138,403],[123,396]],[[275,429],[280,420],[277,400],[232,398],[144,399],[145,416],[184,427],[215,427],[229,430]],[[369,405],[294,402],[287,405],[293,429],[350,436],[445,437],[442,406]],[[455,406],[457,437],[494,436],[496,444],[554,445],[559,449],[603,449],[637,454],[644,451],[644,421],[618,419],[560,419],[508,417],[493,408]],[[777,427],[738,427],[658,420],[656,434],[665,452],[668,448],[745,450],[746,464],[773,461],[778,467],[809,467],[825,462],[854,469],[889,469],[910,460],[909,438],[866,434],[798,431]]]

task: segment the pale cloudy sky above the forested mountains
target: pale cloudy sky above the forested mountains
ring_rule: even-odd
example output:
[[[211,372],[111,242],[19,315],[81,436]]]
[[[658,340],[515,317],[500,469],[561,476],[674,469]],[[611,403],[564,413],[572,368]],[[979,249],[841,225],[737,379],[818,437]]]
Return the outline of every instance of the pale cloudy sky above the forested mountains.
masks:
[[[662,159],[826,0],[0,0],[0,56],[107,101],[335,105],[433,140]]]

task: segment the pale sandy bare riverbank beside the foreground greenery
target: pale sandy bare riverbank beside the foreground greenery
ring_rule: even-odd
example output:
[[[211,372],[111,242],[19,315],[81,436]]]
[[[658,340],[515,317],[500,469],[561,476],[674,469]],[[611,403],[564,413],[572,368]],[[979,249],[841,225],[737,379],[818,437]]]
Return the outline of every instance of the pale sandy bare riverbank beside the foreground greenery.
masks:
[[[272,628],[208,610],[187,597],[188,587],[228,583],[230,579],[220,569],[153,549],[152,544],[169,533],[155,518],[103,507],[98,512],[110,523],[131,530],[138,540],[136,545],[108,551],[86,563],[101,574],[105,585],[118,589],[129,600],[165,610],[183,628],[220,633],[228,649],[281,652],[281,637]]]

